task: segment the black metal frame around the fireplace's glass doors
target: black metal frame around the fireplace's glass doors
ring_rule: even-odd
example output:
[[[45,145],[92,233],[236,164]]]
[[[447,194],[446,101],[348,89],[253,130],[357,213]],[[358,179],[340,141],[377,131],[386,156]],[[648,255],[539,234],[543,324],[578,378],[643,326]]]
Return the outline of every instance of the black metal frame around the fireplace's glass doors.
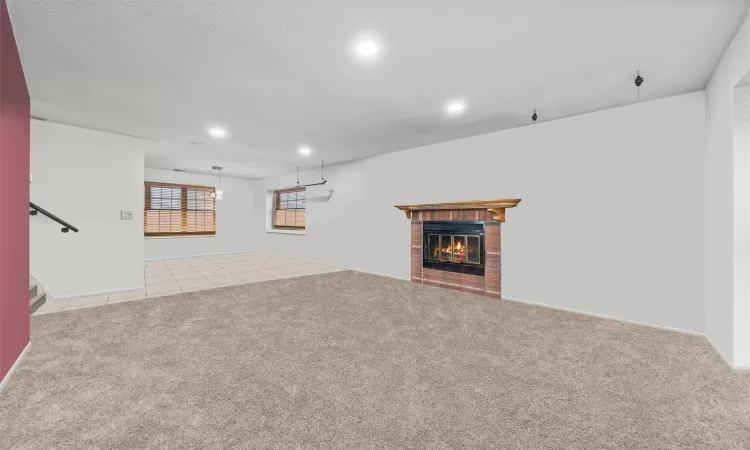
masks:
[[[422,222],[422,267],[446,272],[484,276],[484,222],[476,221],[425,221]],[[451,234],[479,236],[479,264],[435,261],[429,259],[428,236],[431,234]]]

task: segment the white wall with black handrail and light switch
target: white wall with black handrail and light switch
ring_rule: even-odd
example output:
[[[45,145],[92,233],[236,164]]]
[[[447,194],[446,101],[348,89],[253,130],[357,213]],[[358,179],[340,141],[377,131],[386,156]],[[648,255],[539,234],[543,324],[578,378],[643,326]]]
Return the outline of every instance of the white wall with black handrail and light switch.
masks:
[[[53,297],[143,287],[148,141],[31,121],[31,201],[80,229],[31,219],[31,275]],[[120,220],[120,210],[133,220]]]

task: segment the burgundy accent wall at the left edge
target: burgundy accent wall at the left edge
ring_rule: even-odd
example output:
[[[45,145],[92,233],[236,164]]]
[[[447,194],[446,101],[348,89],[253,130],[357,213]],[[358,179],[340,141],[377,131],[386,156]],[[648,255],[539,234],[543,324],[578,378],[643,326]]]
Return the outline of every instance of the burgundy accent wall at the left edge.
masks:
[[[29,91],[0,0],[0,380],[29,342]]]

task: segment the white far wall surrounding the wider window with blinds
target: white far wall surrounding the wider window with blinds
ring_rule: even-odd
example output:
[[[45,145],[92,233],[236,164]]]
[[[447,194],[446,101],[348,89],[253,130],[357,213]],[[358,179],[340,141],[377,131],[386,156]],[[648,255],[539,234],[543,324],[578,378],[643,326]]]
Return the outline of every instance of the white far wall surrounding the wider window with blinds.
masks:
[[[171,170],[146,169],[146,181],[216,186],[218,178]],[[252,250],[253,182],[221,178],[224,198],[216,202],[216,236],[144,238],[146,259]],[[141,233],[141,236],[142,233]]]

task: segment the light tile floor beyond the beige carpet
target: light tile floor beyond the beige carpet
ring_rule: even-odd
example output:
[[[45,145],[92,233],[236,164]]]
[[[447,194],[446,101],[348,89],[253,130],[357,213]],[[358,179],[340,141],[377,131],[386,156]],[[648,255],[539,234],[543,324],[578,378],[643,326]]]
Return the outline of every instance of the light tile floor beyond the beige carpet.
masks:
[[[144,289],[54,300],[42,305],[33,315],[341,270],[344,269],[258,252],[146,261],[143,264]]]

